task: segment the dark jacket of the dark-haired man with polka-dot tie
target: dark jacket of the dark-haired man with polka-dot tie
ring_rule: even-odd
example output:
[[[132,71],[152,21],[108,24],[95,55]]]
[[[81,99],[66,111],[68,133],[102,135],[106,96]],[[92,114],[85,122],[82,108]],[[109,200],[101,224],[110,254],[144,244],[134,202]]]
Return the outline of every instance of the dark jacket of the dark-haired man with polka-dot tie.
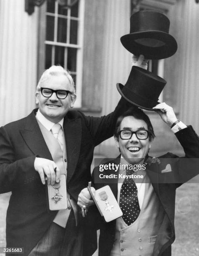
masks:
[[[171,244],[175,240],[174,214],[176,188],[199,174],[198,136],[191,126],[178,131],[175,135],[181,143],[181,146],[184,148],[185,158],[179,158],[174,154],[167,153],[164,156],[159,157],[160,164],[156,162],[146,167],[146,172],[153,185],[154,191],[166,213],[164,214],[164,219],[157,234],[153,256],[171,256]],[[119,164],[120,157],[114,159],[112,162]],[[171,166],[171,169],[168,168],[167,171],[164,171],[168,164]],[[93,170],[93,181],[95,180],[95,175],[98,177],[100,173],[104,174],[104,172],[99,172],[99,167],[96,167]],[[105,174],[111,173],[116,174],[115,171],[105,171]],[[108,179],[104,179],[104,182],[102,181],[100,184],[95,183],[94,186],[98,189],[107,184],[111,187],[111,190],[117,199],[117,178],[115,181],[111,179],[111,182]],[[95,216],[95,218],[93,218],[93,216]],[[113,247],[116,220],[106,223],[99,215],[96,207],[93,207],[88,211],[88,218],[90,218],[90,228],[92,228],[92,226],[95,226],[96,229],[100,228],[99,256],[108,256]],[[88,237],[88,239],[93,239],[94,241],[94,231],[91,238]]]

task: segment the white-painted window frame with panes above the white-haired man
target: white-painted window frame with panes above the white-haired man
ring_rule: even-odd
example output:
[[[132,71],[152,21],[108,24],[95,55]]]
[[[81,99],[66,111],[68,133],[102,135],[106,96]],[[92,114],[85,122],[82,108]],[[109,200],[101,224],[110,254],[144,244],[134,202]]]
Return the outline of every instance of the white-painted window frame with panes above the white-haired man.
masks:
[[[68,20],[78,20],[77,26],[77,44],[70,44],[68,42],[61,43],[55,41],[57,38],[57,24],[54,27],[54,38],[53,41],[46,40],[46,16],[55,17],[55,22],[58,22],[58,18],[67,18],[68,15],[61,15],[57,13],[58,9],[58,2],[55,2],[55,14],[47,13],[47,3],[45,2],[39,9],[39,22],[38,22],[38,80],[40,79],[41,75],[45,70],[45,46],[46,45],[53,45],[53,46],[64,46],[65,47],[65,54],[67,54],[67,48],[75,48],[77,49],[76,54],[76,72],[71,72],[71,75],[76,75],[76,102],[75,108],[81,108],[82,106],[82,76],[83,76],[83,35],[84,35],[84,13],[85,13],[85,0],[78,0],[78,17],[71,17],[69,15]],[[63,16],[63,17],[62,17]],[[67,23],[67,41],[69,40],[68,35],[70,34],[70,22]],[[55,48],[54,48],[55,49]],[[52,50],[53,51],[53,50]],[[55,50],[54,50],[55,51]],[[55,56],[53,54],[53,56]],[[66,69],[66,60],[67,55],[64,59],[64,68]],[[54,63],[54,59],[51,60],[51,64]]]

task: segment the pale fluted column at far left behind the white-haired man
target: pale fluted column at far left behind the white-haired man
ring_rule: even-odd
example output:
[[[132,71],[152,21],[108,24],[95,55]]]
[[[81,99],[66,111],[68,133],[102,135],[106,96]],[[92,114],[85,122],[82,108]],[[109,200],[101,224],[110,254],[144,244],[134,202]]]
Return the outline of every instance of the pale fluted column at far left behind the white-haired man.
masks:
[[[35,107],[38,8],[25,12],[24,0],[0,1],[0,125]]]

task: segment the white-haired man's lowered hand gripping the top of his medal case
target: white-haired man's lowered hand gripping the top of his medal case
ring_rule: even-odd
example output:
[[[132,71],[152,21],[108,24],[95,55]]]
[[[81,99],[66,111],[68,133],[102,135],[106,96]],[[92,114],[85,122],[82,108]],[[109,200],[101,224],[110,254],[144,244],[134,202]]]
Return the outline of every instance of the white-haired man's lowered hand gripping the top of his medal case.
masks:
[[[60,181],[60,170],[56,166],[55,162],[36,157],[34,162],[35,171],[39,173],[41,182],[45,185],[45,175],[48,180],[48,185],[54,185],[55,181]],[[56,172],[55,172],[56,171]]]

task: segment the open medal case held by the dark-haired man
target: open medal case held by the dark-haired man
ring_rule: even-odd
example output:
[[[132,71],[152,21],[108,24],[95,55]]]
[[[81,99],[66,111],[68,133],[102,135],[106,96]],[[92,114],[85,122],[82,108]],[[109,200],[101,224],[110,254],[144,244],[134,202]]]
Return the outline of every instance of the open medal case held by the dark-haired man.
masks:
[[[113,195],[111,188],[107,185],[97,189],[95,196],[91,192],[88,186],[88,191],[90,192],[93,201],[95,202],[99,212],[104,217],[106,222],[115,220],[123,215],[116,198]]]

